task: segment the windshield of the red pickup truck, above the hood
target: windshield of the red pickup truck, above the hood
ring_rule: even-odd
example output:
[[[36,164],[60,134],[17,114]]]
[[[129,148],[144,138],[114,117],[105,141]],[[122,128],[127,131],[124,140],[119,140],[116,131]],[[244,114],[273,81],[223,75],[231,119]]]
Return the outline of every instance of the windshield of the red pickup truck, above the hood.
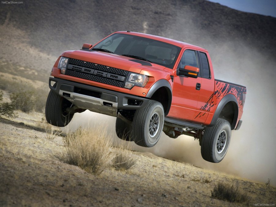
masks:
[[[107,37],[93,48],[105,49],[118,55],[131,55],[133,58],[138,56],[170,69],[181,49],[158,40],[120,33]]]

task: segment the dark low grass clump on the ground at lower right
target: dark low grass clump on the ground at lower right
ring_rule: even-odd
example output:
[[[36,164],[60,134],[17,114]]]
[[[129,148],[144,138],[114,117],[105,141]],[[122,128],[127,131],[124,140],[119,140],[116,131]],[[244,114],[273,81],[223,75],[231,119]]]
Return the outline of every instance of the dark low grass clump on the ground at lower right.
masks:
[[[213,197],[219,200],[242,203],[248,201],[246,194],[242,193],[238,186],[234,187],[229,184],[218,182],[218,184],[211,191]]]

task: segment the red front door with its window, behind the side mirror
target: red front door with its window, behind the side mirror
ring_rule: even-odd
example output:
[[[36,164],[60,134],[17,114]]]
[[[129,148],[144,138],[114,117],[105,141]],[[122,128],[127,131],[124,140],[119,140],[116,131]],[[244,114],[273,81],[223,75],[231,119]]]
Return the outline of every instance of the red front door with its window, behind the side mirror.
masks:
[[[186,65],[200,68],[199,56],[196,51],[186,49],[183,52],[177,68],[184,68]],[[194,115],[198,111],[197,102],[200,96],[200,86],[201,77],[192,78],[175,74],[173,80],[173,98],[168,116],[175,119],[197,122],[194,119]]]

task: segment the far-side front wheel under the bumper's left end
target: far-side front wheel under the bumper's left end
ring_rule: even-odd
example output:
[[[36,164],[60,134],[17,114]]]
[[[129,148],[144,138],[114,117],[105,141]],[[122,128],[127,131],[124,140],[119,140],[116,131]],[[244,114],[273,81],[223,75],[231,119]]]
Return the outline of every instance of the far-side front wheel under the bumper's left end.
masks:
[[[45,107],[47,122],[54,126],[66,126],[74,115],[66,112],[70,107],[73,107],[73,103],[50,90]]]

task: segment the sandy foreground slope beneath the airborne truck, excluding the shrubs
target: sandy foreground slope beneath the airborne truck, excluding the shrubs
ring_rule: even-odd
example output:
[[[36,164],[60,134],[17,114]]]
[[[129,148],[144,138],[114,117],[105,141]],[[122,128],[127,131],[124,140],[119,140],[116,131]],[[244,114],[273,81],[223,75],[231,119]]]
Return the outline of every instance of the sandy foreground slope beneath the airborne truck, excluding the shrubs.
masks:
[[[17,121],[39,122],[42,114],[20,113]],[[23,119],[24,118],[24,119]],[[191,164],[131,152],[127,171],[108,168],[96,176],[62,163],[55,155],[64,138],[0,118],[0,206],[253,206],[276,203],[276,188],[207,171]],[[211,197],[218,181],[238,185],[247,203]]]

